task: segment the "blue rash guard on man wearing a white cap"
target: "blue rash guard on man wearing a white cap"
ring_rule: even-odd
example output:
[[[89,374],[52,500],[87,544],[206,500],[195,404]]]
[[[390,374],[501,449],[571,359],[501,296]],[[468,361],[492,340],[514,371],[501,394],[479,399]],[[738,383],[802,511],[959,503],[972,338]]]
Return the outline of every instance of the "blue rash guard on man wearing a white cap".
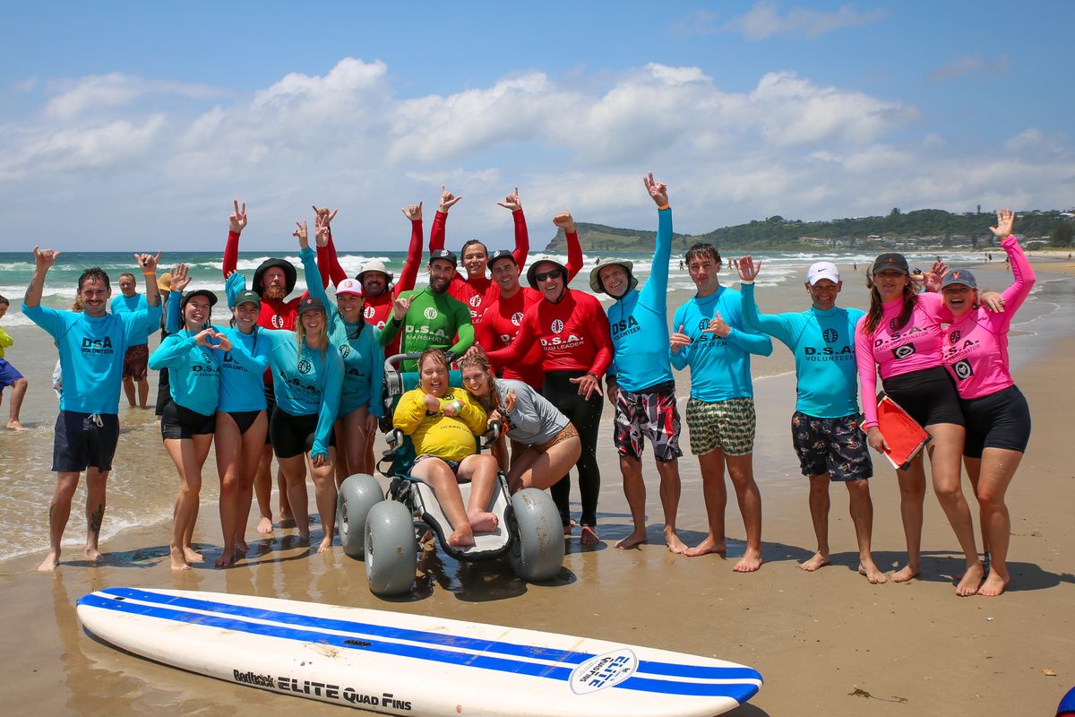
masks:
[[[783,342],[796,357],[796,411],[815,418],[843,418],[859,412],[855,327],[861,309],[759,314],[754,284],[744,284],[743,320]]]

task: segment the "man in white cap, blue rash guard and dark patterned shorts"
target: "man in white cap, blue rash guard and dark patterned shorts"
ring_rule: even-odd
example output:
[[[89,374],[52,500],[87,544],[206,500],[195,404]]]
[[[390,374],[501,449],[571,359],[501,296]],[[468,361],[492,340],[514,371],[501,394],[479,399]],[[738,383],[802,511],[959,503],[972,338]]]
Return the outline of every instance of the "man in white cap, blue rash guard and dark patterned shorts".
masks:
[[[859,546],[859,572],[871,583],[888,578],[873,560],[873,502],[869,478],[873,462],[862,432],[855,362],[855,327],[861,309],[836,306],[844,283],[836,264],[818,261],[806,270],[811,307],[804,312],[759,314],[755,279],[761,261],[746,256],[735,262],[743,295],[743,319],[755,331],[778,339],[796,359],[796,411],[791,444],[802,474],[809,478],[809,512],[817,553],[800,563],[813,572],[829,564],[829,484],[847,486],[851,522]]]

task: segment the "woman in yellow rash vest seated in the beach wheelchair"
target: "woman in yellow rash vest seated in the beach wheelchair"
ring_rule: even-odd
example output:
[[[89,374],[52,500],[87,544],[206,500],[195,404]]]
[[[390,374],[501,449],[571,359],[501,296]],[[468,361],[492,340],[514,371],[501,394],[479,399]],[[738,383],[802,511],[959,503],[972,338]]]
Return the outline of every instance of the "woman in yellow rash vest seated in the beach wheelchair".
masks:
[[[475,453],[486,430],[485,411],[461,388],[448,386],[448,363],[438,349],[418,359],[418,388],[400,397],[392,425],[411,436],[417,455],[411,475],[432,486],[452,522],[448,545],[474,545],[474,533],[497,529],[489,499],[497,483],[497,459]],[[463,506],[459,481],[473,483]]]

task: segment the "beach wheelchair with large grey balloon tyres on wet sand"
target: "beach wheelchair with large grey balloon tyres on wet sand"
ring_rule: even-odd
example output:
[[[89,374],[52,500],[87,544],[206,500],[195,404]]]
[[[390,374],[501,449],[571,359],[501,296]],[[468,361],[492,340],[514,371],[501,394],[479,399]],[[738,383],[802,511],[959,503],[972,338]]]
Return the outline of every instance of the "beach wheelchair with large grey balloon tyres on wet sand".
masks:
[[[385,361],[383,401],[388,421],[388,449],[377,462],[377,471],[389,478],[387,492],[371,475],[352,475],[340,486],[336,532],[344,553],[366,561],[370,590],[377,596],[408,593],[415,583],[418,558],[417,531],[430,530],[441,548],[456,560],[473,562],[506,558],[512,570],[528,583],[548,580],[563,564],[563,531],[560,514],[548,493],[526,488],[511,494],[507,478],[498,471],[489,512],[498,518],[497,529],[475,533],[474,545],[449,545],[452,525],[441,511],[433,488],[410,474],[416,458],[411,438],[391,428],[391,415],[399,398],[418,385],[417,372],[401,372],[403,360],[418,354],[397,354]],[[448,383],[462,386],[459,371]],[[383,419],[382,427],[385,427]],[[500,438],[498,422],[475,439],[475,453]],[[471,484],[460,483],[463,504],[470,500]]]

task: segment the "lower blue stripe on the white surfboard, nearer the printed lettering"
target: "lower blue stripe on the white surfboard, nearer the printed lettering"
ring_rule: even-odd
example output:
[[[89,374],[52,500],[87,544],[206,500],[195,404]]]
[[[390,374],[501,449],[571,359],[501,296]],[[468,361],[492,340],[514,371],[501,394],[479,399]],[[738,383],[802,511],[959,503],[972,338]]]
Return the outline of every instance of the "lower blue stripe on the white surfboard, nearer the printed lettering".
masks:
[[[567,682],[571,677],[569,668],[539,664],[522,660],[512,660],[502,657],[489,657],[485,655],[470,655],[454,650],[440,649],[436,647],[425,647],[417,645],[404,645],[401,643],[382,642],[376,640],[364,640],[369,645],[354,645],[347,641],[352,640],[347,635],[334,635],[314,630],[303,630],[299,628],[280,627],[273,625],[262,625],[260,622],[249,622],[238,617],[219,617],[216,615],[204,615],[201,613],[190,613],[171,606],[146,605],[126,600],[114,600],[103,598],[97,593],[83,596],[78,599],[78,605],[87,607],[98,607],[116,613],[128,615],[142,615],[176,622],[189,625],[201,625],[221,630],[231,630],[246,634],[262,635],[282,640],[292,640],[302,643],[316,643],[331,645],[341,649],[355,649],[382,655],[395,655],[398,657],[429,660],[447,664],[456,664],[465,668],[478,668],[497,672],[507,672],[514,674],[529,675],[532,677],[544,677],[558,682]],[[148,656],[152,657],[152,656]],[[631,683],[637,682],[637,685]],[[661,679],[645,679],[640,677],[629,677],[616,688],[636,689],[662,694],[682,694],[693,697],[727,697],[737,702],[745,702],[758,691],[758,687],[752,684],[712,684],[712,683],[677,683]]]

